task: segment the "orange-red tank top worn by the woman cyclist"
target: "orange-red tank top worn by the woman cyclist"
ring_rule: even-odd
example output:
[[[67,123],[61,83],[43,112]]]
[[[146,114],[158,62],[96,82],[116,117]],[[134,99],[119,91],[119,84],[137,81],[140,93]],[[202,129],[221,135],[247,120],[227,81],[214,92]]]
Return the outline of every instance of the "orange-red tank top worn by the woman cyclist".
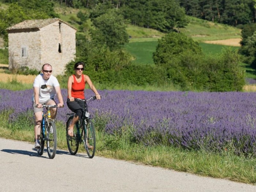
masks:
[[[74,79],[74,82],[72,83],[72,87],[71,87],[71,96],[74,98],[84,99],[84,87],[85,87],[84,75],[82,75],[82,80],[79,83],[76,81],[75,75],[73,75],[73,79]]]

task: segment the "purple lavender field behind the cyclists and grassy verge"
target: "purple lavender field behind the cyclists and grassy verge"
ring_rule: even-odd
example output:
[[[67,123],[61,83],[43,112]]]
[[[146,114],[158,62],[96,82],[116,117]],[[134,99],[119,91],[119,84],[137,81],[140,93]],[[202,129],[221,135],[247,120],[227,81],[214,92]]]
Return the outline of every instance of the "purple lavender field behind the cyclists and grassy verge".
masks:
[[[64,100],[67,91],[62,90]],[[93,93],[85,91],[90,97]],[[90,113],[107,122],[106,133],[131,133],[134,142],[164,144],[194,150],[256,154],[255,93],[195,93],[101,90],[102,100],[90,103]],[[10,122],[31,113],[33,90],[0,89],[0,112],[13,109]],[[57,119],[65,123],[65,106]],[[97,112],[97,114],[96,114]],[[33,117],[31,117],[33,121]]]

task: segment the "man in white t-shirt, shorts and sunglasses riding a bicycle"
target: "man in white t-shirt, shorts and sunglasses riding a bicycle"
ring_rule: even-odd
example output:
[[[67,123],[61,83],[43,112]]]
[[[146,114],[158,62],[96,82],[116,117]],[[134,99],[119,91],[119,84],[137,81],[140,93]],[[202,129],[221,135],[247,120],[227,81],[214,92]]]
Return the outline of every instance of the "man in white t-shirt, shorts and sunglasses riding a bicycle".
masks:
[[[54,97],[57,94],[59,99],[58,107],[63,106],[63,98],[60,90],[60,84],[56,77],[52,75],[52,66],[48,63],[42,66],[41,74],[35,77],[34,83],[33,109],[35,114],[35,148],[40,147],[39,136],[42,123],[42,105],[56,105]],[[57,108],[51,109],[51,116],[54,119],[57,114]]]

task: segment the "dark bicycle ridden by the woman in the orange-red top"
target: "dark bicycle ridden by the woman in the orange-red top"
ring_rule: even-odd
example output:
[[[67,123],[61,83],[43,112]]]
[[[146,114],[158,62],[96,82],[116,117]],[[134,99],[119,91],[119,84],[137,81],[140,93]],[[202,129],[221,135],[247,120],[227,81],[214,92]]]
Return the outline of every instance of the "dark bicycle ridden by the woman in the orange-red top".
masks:
[[[87,99],[87,100],[75,99],[75,101],[77,100],[84,101],[85,112],[82,118],[80,119],[80,121],[78,121],[74,126],[73,137],[68,135],[68,128],[75,114],[67,113],[67,127],[66,127],[67,144],[68,144],[68,150],[71,153],[71,155],[75,155],[77,153],[79,144],[83,142],[83,145],[87,151],[88,157],[89,158],[94,157],[95,148],[96,148],[95,129],[94,129],[93,121],[90,118],[88,105],[89,105],[89,101],[93,101],[95,99],[96,99],[96,96],[91,97],[90,99]]]

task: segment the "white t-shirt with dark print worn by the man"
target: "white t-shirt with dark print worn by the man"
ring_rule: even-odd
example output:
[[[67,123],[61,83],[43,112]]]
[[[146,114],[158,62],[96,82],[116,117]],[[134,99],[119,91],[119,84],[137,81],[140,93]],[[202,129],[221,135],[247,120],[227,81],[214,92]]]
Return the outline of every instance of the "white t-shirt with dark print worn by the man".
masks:
[[[45,89],[42,89],[41,86],[46,85]],[[48,80],[44,80],[43,74],[39,74],[35,77],[33,87],[39,87],[39,103],[45,103],[49,99],[55,97],[56,91],[54,87],[60,86],[58,80],[54,76],[50,76]],[[35,98],[33,97],[35,102]]]

